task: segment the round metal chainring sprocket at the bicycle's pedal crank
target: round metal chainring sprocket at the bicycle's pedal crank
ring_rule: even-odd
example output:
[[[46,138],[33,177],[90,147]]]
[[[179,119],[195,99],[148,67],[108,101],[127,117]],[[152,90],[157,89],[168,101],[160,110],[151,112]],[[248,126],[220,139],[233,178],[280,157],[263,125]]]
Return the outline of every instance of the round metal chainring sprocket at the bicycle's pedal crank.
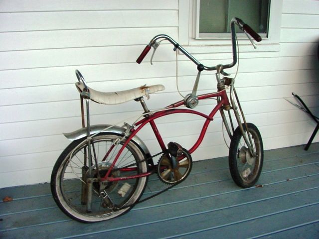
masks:
[[[181,148],[177,157],[165,153],[158,163],[158,176],[166,184],[180,183],[189,175],[192,168],[192,158],[189,152]]]

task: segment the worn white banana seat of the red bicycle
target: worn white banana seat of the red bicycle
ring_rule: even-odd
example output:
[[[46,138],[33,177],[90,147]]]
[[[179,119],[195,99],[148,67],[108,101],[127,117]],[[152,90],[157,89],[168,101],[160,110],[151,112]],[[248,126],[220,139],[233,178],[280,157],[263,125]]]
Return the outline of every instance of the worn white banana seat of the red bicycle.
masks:
[[[75,83],[75,86],[80,93],[82,93],[85,88],[84,84],[81,82]],[[90,92],[90,99],[92,101],[99,104],[116,105],[132,101],[143,96],[149,97],[152,93],[165,90],[165,87],[163,85],[141,86],[126,91],[116,92],[100,92],[91,88],[88,89]]]

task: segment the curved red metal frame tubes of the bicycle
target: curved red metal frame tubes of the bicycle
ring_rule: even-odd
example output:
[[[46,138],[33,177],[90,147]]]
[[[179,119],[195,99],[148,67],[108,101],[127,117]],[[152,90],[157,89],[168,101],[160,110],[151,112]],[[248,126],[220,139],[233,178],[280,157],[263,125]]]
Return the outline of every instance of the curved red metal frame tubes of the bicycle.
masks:
[[[141,119],[140,121],[138,121],[136,123],[136,129],[132,129],[131,130],[131,134],[130,136],[126,139],[125,143],[122,145],[121,149],[119,150],[119,152],[117,153],[114,161],[112,162],[112,165],[110,167],[110,169],[108,170],[108,172],[106,173],[106,175],[101,178],[101,181],[120,181],[120,180],[124,180],[124,179],[134,179],[134,178],[139,178],[139,177],[145,177],[145,176],[149,176],[151,175],[153,172],[147,172],[147,173],[141,173],[138,175],[134,175],[134,176],[128,176],[128,177],[109,177],[109,175],[111,174],[112,168],[115,166],[115,163],[117,162],[118,158],[120,157],[122,151],[124,150],[124,148],[127,146],[127,144],[130,142],[130,140],[147,124],[150,123],[150,125],[152,126],[152,129],[155,133],[155,136],[160,144],[160,148],[162,149],[162,151],[166,150],[166,146],[164,144],[164,141],[162,139],[162,137],[160,136],[160,132],[156,126],[155,123],[155,119],[158,119],[160,117],[164,117],[164,116],[168,116],[168,115],[172,115],[172,114],[180,114],[180,113],[184,113],[184,114],[194,114],[194,115],[198,115],[201,116],[203,118],[205,118],[206,120],[204,121],[203,127],[200,131],[199,137],[196,140],[195,144],[188,150],[189,153],[193,153],[198,146],[200,145],[200,143],[202,142],[207,127],[209,125],[209,123],[213,120],[213,117],[215,116],[215,114],[222,108],[223,105],[229,105],[229,101],[228,101],[228,97],[226,94],[225,90],[219,91],[219,92],[215,92],[215,93],[209,93],[209,94],[204,94],[204,95],[199,95],[198,96],[198,100],[204,100],[204,99],[208,99],[208,98],[215,98],[215,97],[220,97],[220,101],[218,101],[217,105],[212,109],[212,111],[210,112],[209,115],[205,115],[203,113],[194,111],[194,110],[190,110],[190,109],[175,109],[177,107],[183,106],[184,105],[184,101],[179,101],[176,102],[172,105],[169,105],[165,108],[164,111],[159,111],[156,112],[154,114],[150,114],[147,118]]]

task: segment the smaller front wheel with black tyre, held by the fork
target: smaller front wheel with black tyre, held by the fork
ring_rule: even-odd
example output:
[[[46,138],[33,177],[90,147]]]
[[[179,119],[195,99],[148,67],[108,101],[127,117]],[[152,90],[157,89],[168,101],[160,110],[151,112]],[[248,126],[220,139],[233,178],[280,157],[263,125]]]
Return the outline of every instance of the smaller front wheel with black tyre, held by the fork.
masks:
[[[252,140],[253,155],[249,151],[239,126],[234,131],[229,147],[229,169],[234,182],[242,187],[249,188],[257,182],[264,160],[263,141],[256,125],[242,124],[246,137],[248,134]],[[248,139],[249,140],[249,139]]]

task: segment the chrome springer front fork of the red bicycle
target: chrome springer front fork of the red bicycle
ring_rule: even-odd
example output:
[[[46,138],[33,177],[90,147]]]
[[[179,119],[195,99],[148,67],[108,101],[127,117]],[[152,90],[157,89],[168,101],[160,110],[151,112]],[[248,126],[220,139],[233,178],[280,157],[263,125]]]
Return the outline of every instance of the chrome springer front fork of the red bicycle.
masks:
[[[252,142],[251,135],[249,133],[247,121],[246,121],[244,112],[241,108],[236,89],[234,87],[234,79],[231,79],[228,77],[223,77],[221,79],[220,75],[228,76],[228,74],[223,71],[221,66],[217,66],[216,79],[217,79],[218,91],[225,90],[225,85],[230,87],[230,92],[229,92],[230,105],[228,105],[228,106],[224,105],[219,110],[221,117],[222,117],[222,120],[223,120],[223,124],[225,125],[225,128],[226,128],[227,134],[228,134],[229,138],[232,139],[232,135],[235,131],[234,123],[233,123],[231,111],[230,111],[230,110],[232,110],[234,112],[236,121],[238,123],[238,127],[240,128],[241,134],[243,136],[243,139],[244,139],[246,145],[248,146],[249,152],[250,152],[252,157],[255,157],[256,155],[255,155],[255,152],[253,149],[253,142]],[[235,97],[235,99],[234,99],[234,97]],[[237,104],[236,104],[236,102],[237,102]],[[230,126],[228,124],[228,120],[225,116],[224,111],[228,112]]]

